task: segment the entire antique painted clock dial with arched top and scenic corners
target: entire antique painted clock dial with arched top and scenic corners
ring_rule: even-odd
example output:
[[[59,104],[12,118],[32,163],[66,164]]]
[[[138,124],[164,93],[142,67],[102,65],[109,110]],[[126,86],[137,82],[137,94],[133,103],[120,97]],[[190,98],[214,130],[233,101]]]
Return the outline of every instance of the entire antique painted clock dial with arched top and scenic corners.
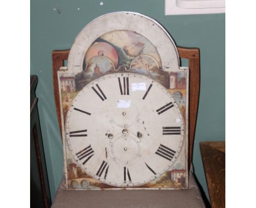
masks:
[[[189,70],[179,64],[150,17],[110,13],[83,28],[58,72],[67,189],[188,187]]]

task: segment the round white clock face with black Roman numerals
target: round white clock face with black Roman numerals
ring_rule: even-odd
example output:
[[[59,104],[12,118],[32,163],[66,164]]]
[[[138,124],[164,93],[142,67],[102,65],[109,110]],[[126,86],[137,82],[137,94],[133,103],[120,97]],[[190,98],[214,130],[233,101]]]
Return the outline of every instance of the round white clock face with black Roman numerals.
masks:
[[[170,169],[184,139],[182,113],[161,84],[136,74],[111,74],[86,85],[66,118],[74,160],[116,187],[148,183]]]

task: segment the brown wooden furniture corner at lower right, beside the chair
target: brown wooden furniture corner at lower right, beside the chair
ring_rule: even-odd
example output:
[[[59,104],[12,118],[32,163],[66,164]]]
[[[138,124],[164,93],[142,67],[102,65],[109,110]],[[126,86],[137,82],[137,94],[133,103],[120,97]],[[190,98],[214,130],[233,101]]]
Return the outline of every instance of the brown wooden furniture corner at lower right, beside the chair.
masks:
[[[225,207],[225,142],[200,143],[212,208]]]

